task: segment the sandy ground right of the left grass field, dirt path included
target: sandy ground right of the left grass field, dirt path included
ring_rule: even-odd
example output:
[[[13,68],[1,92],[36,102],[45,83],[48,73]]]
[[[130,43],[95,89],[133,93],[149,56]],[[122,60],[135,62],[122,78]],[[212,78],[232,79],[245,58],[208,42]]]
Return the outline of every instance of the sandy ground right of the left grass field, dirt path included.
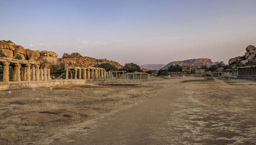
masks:
[[[185,77],[39,144],[256,144],[256,82]]]

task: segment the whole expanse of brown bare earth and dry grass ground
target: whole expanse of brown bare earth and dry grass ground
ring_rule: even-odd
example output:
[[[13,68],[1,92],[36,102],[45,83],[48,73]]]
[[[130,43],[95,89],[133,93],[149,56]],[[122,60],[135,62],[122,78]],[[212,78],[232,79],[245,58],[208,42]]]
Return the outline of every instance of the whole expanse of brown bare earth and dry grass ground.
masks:
[[[70,88],[75,90],[73,92],[64,86],[51,91],[41,88],[42,91],[36,90],[39,94],[20,90],[19,96],[17,93],[12,97],[1,92],[1,141],[16,140],[22,144],[256,144],[256,82],[185,77],[141,83],[142,86],[130,86],[130,89],[107,86],[119,90],[113,89],[113,96],[107,95],[107,98],[98,92],[102,87],[89,87],[87,93],[96,91],[96,94],[88,95],[87,100],[82,93],[85,86]],[[163,88],[160,84],[167,85]],[[139,94],[127,95],[133,93]],[[153,97],[148,97],[150,94],[154,94]],[[93,115],[82,115],[88,109]],[[38,115],[42,115],[40,120],[34,117]],[[56,116],[51,115],[62,118],[56,121]],[[11,133],[11,130],[18,133]],[[24,137],[19,136],[20,130]]]

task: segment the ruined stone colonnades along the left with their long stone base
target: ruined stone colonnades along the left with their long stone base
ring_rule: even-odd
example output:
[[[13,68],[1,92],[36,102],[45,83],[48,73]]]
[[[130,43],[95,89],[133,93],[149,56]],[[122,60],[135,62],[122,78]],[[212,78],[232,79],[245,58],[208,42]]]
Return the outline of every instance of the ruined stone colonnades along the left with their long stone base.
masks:
[[[103,68],[91,66],[74,66],[65,68],[66,79],[51,79],[50,68],[42,67],[39,62],[0,57],[0,66],[3,69],[2,74],[0,74],[2,76],[0,89],[8,89],[10,87],[36,88],[40,86],[68,85],[70,83],[85,84],[89,80],[148,79],[149,75],[145,72],[126,73],[126,71],[106,71]]]

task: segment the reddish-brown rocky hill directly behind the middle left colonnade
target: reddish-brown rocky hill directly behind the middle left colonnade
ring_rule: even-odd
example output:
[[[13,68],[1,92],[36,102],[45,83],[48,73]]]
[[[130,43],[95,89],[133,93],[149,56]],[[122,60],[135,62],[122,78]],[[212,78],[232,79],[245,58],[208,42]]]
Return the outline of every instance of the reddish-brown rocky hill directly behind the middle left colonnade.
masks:
[[[123,66],[118,62],[107,59],[94,59],[92,57],[82,56],[79,53],[64,53],[60,61],[65,63],[67,66],[95,66],[101,63],[110,63],[111,65],[116,66],[118,69],[123,68]]]

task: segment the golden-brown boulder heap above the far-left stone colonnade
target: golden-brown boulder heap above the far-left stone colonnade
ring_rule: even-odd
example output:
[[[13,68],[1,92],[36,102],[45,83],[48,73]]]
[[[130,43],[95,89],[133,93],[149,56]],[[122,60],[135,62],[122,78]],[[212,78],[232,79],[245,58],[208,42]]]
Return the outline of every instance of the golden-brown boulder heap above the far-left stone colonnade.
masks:
[[[57,54],[53,51],[25,49],[24,47],[11,42],[11,40],[0,40],[0,49],[3,54],[3,56],[0,57],[35,61],[40,63],[42,68],[50,68],[51,65],[60,64]]]

